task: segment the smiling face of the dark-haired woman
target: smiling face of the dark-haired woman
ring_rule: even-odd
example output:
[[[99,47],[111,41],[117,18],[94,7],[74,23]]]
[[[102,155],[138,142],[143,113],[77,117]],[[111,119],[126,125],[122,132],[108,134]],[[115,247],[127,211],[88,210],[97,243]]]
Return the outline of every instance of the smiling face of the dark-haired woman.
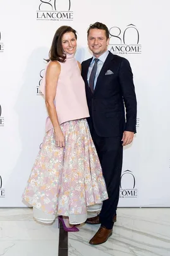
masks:
[[[62,39],[61,45],[63,47],[63,52],[68,54],[73,54],[76,51],[76,37],[73,32],[66,32]]]

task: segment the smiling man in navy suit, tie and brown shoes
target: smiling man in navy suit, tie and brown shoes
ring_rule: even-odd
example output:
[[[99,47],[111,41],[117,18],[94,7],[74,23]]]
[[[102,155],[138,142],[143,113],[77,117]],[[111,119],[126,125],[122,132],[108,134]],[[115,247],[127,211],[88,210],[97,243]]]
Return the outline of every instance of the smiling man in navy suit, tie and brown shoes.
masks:
[[[82,63],[90,118],[90,132],[99,155],[109,199],[100,214],[87,223],[101,226],[90,244],[99,245],[112,235],[119,200],[123,146],[133,141],[136,132],[137,99],[133,74],[127,59],[107,51],[109,30],[96,22],[87,32],[93,58]],[[126,109],[126,121],[124,108]]]

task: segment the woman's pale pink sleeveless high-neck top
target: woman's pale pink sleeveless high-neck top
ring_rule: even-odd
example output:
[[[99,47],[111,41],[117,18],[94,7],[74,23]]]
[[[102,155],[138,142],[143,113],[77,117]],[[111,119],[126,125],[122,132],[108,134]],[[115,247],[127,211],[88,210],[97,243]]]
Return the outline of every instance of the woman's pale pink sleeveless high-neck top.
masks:
[[[85,83],[74,54],[66,54],[66,61],[59,64],[61,65],[61,73],[58,78],[54,104],[59,125],[61,125],[66,121],[87,118],[89,112],[85,95]],[[40,91],[46,99],[46,70],[40,84]],[[46,119],[46,131],[52,128],[51,119],[48,116]]]

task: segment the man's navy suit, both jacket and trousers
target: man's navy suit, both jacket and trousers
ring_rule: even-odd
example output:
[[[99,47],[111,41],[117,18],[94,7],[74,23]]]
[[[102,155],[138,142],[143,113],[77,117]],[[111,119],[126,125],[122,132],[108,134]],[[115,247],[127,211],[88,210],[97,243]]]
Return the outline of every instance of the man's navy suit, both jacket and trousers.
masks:
[[[107,229],[113,226],[119,200],[119,183],[123,159],[123,131],[136,133],[137,99],[133,74],[127,59],[109,52],[92,94],[87,82],[91,59],[82,63],[90,118],[90,132],[99,155],[109,199],[100,212],[100,221]],[[108,74],[109,70],[109,75]],[[124,111],[125,109],[125,111]],[[125,114],[126,113],[126,114]]]

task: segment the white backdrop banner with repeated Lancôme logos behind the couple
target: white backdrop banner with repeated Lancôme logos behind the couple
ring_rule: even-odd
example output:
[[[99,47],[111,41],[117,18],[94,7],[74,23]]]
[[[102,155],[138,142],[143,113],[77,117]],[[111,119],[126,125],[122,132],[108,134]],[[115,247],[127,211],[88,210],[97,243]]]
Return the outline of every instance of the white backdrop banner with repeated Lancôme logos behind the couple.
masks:
[[[21,194],[46,120],[39,91],[57,28],[78,32],[76,59],[90,58],[87,28],[105,23],[109,50],[130,61],[138,100],[137,135],[124,148],[119,207],[170,206],[169,1],[0,1],[0,206]]]

